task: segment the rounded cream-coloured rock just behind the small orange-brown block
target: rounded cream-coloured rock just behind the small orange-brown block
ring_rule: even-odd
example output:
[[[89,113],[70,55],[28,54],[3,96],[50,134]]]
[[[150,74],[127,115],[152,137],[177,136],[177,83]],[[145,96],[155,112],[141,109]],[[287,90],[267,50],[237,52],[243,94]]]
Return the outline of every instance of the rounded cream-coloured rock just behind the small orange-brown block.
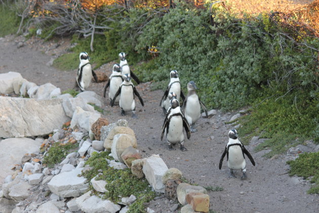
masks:
[[[111,148],[113,158],[121,163],[124,163],[124,160],[121,158],[122,153],[128,147],[132,147],[133,149],[133,146],[135,148],[137,147],[135,136],[129,134],[116,134],[113,137],[113,144]]]

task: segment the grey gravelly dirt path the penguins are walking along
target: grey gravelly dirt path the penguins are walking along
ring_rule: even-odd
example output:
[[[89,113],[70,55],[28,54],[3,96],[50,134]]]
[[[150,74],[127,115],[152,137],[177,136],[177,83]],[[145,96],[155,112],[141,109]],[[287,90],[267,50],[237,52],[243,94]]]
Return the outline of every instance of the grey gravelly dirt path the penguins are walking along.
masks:
[[[37,85],[52,83],[61,88],[61,91],[73,88],[77,67],[67,72],[46,65],[70,45],[68,39],[61,39],[57,43],[43,43],[37,38],[28,41],[23,37],[0,38],[0,73],[19,72],[30,82]],[[18,48],[19,46],[22,47]],[[98,70],[110,75],[112,64],[105,64]],[[223,191],[209,192],[210,209],[216,212],[318,212],[319,196],[306,193],[310,184],[289,183],[291,177],[286,161],[296,158],[294,155],[283,154],[266,159],[262,156],[267,150],[256,153],[253,146],[246,146],[256,162],[254,167],[247,159],[247,180],[241,180],[241,172],[236,172],[235,178],[229,178],[225,159],[222,169],[218,169],[221,154],[228,141],[228,131],[236,125],[225,122],[238,113],[237,111],[217,111],[217,115],[211,118],[201,118],[196,123],[198,131],[185,140],[188,151],[181,152],[178,147],[169,151],[165,138],[161,141],[164,116],[159,103],[163,91],[151,91],[150,82],[138,85],[137,90],[145,106],[142,107],[136,100],[138,119],[133,119],[131,114],[121,116],[118,106],[110,107],[109,100],[103,98],[105,84],[92,83],[89,90],[101,96],[103,117],[110,123],[118,119],[126,119],[129,122],[135,131],[142,157],[159,154],[169,168],[176,167],[181,170],[183,176],[192,184],[223,188]],[[238,134],[241,136],[240,132]],[[149,203],[149,207],[156,212],[169,212],[168,209],[173,205],[174,203],[165,198]]]

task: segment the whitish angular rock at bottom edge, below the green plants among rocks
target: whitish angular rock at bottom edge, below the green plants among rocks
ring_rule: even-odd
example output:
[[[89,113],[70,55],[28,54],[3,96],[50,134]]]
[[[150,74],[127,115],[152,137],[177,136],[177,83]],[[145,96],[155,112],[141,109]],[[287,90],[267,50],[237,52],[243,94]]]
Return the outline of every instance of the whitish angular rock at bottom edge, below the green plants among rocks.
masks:
[[[115,213],[121,209],[120,205],[114,204],[109,200],[102,200],[93,195],[90,191],[76,199],[77,206],[86,213],[104,212]]]

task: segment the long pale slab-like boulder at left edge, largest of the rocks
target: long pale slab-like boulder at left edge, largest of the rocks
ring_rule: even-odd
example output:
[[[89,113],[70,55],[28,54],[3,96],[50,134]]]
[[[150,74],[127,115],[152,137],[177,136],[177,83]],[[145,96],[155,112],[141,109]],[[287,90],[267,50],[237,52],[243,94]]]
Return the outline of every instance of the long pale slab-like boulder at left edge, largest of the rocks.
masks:
[[[45,135],[69,120],[60,99],[0,97],[0,102],[0,137]]]

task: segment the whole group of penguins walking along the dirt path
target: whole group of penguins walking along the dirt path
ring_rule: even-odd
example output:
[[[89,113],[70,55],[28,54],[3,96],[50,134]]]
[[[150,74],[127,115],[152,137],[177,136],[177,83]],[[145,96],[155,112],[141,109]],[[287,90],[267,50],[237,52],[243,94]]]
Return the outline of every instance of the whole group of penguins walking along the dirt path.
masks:
[[[119,107],[122,109],[122,116],[124,116],[126,112],[132,112],[132,117],[137,118],[135,113],[135,95],[138,97],[143,107],[144,102],[131,79],[137,84],[139,84],[140,81],[130,70],[126,54],[122,52],[119,53],[118,56],[120,62],[119,64],[116,63],[113,65],[112,74],[104,87],[103,95],[105,97],[106,90],[109,88],[108,97],[111,107],[113,107],[115,103],[118,103]],[[80,64],[77,70],[75,87],[79,88],[81,91],[85,91],[90,86],[92,78],[97,82],[97,76],[90,64],[88,53],[80,53],[79,59]],[[173,146],[179,144],[180,150],[184,152],[187,151],[187,149],[184,146],[183,129],[185,129],[187,139],[189,139],[190,133],[197,131],[194,128],[194,123],[201,117],[201,107],[205,111],[206,117],[208,117],[208,112],[205,104],[196,94],[198,88],[196,87],[195,82],[188,82],[188,93],[185,97],[181,90],[177,70],[172,70],[170,72],[170,78],[170,83],[164,92],[160,103],[160,106],[163,108],[163,112],[166,115],[162,127],[161,140],[163,140],[163,136],[166,133],[169,150],[175,150]],[[180,97],[183,99],[182,107],[180,107],[179,104]],[[237,130],[230,130],[228,136],[229,141],[220,158],[219,169],[221,169],[223,159],[225,155],[227,155],[227,164],[230,169],[229,176],[234,176],[233,170],[242,170],[242,179],[244,180],[247,177],[245,155],[247,155],[254,166],[255,161],[241,141],[238,140]]]

